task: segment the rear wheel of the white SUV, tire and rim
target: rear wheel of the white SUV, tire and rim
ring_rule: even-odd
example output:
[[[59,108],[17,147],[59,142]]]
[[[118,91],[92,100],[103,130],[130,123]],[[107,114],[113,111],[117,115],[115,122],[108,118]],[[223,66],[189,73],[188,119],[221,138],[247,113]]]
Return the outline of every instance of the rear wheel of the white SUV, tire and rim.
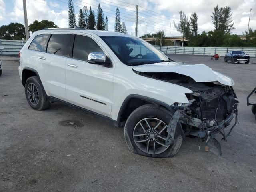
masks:
[[[25,95],[28,104],[35,110],[44,110],[50,107],[51,103],[44,93],[44,88],[38,76],[32,76],[26,80]]]

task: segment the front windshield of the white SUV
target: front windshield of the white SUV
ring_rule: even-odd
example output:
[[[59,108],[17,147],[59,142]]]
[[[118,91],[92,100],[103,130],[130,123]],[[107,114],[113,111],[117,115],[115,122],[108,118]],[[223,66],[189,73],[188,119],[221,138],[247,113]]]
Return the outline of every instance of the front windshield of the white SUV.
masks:
[[[169,62],[169,58],[142,39],[121,36],[101,36],[114,54],[126,65]]]

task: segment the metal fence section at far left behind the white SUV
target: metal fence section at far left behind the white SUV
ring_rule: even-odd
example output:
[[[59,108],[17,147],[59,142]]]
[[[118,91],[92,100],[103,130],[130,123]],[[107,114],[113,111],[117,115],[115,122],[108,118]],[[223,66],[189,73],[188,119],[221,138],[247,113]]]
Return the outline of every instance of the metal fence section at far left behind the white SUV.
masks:
[[[18,55],[26,41],[0,39],[0,55]]]

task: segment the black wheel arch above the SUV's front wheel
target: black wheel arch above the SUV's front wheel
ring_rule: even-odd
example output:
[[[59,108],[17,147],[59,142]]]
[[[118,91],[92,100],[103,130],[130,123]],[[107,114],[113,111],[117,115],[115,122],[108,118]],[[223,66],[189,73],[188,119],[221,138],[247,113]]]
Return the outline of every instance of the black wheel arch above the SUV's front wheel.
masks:
[[[126,122],[127,118],[130,116],[130,114],[138,107],[144,105],[144,104],[154,104],[156,106],[162,106],[166,108],[169,111],[172,111],[172,108],[159,100],[147,97],[147,96],[142,96],[142,95],[137,95],[137,94],[131,94],[127,96],[122,103],[120,110],[118,112],[118,118],[117,118],[117,123],[118,127],[124,126],[124,122]]]

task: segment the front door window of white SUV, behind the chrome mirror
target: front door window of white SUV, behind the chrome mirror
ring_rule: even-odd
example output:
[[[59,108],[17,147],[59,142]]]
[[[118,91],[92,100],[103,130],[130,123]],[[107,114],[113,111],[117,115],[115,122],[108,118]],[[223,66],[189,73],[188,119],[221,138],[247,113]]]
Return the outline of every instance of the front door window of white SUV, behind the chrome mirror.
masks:
[[[87,61],[90,52],[103,52],[100,46],[92,38],[76,35],[74,40],[73,58]]]

